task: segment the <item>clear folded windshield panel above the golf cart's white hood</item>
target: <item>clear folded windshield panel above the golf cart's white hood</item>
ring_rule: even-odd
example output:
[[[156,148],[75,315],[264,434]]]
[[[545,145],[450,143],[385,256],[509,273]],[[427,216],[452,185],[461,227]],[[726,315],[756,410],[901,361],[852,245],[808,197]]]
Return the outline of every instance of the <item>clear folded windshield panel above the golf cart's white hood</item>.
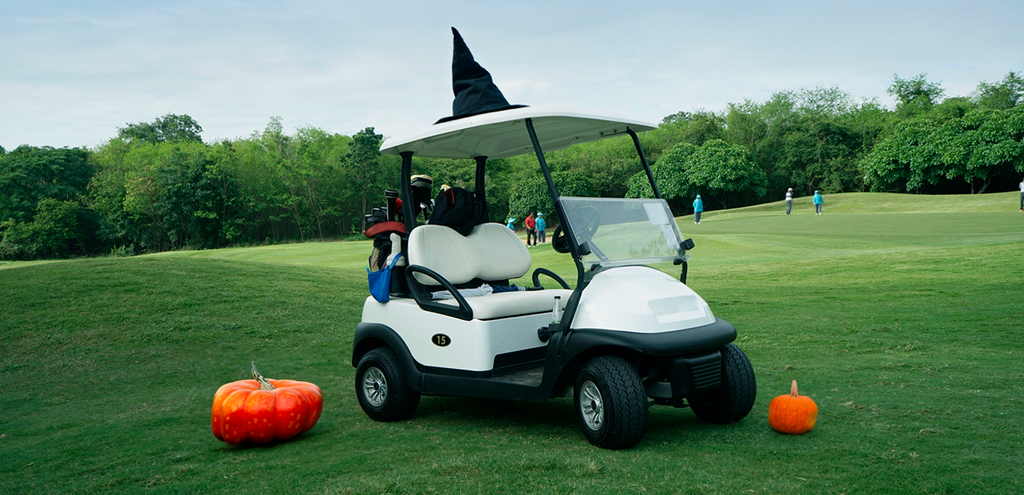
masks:
[[[665,200],[562,196],[558,201],[588,265],[674,262],[684,256]]]

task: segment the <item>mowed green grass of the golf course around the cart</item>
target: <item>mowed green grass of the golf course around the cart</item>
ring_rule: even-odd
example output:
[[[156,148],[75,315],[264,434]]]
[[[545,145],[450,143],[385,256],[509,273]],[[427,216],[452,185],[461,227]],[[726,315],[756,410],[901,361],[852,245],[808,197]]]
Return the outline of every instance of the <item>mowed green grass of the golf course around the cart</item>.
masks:
[[[590,446],[567,399],[370,420],[350,365],[368,242],[6,265],[0,493],[1024,492],[1017,194],[825,201],[679,218],[689,285],[737,327],[758,399],[729,425],[653,407],[628,451]],[[313,429],[214,439],[213,394],[250,361],[323,388]],[[767,421],[794,379],[819,409],[799,437]]]

